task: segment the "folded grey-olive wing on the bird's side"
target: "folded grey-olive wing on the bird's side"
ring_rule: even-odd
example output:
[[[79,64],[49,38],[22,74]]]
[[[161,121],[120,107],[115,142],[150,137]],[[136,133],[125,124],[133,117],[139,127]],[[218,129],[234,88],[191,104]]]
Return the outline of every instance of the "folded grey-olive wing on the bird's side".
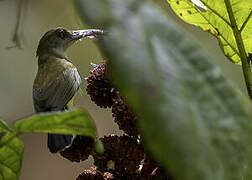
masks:
[[[76,68],[63,71],[48,85],[33,89],[36,112],[63,110],[78,91],[81,77]]]

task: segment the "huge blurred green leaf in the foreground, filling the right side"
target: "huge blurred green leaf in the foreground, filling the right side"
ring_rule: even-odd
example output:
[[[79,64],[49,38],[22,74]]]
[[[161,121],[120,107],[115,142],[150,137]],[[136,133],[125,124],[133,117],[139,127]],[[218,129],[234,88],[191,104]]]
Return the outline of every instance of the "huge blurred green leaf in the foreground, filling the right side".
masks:
[[[251,104],[200,48],[145,1],[76,2],[86,22],[107,28],[114,83],[175,179],[252,179]]]

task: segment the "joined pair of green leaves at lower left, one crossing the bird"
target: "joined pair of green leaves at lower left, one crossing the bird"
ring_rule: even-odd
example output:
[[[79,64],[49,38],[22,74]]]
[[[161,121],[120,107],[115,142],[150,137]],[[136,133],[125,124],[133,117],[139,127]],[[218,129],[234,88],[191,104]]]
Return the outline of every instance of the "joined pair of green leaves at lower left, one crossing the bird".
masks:
[[[42,113],[14,123],[10,129],[0,121],[0,180],[17,180],[22,166],[23,143],[18,136],[25,132],[79,134],[96,139],[96,127],[87,112]]]

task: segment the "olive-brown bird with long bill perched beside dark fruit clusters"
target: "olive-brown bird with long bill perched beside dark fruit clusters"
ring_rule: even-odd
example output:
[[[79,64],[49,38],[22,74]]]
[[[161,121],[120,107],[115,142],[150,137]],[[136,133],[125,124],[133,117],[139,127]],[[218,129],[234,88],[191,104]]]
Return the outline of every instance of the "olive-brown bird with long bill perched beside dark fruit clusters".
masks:
[[[38,70],[33,83],[36,113],[65,111],[81,85],[81,76],[66,50],[83,37],[103,34],[99,29],[70,31],[59,27],[47,31],[39,41],[36,56]],[[69,146],[73,135],[49,133],[47,146],[57,153]]]

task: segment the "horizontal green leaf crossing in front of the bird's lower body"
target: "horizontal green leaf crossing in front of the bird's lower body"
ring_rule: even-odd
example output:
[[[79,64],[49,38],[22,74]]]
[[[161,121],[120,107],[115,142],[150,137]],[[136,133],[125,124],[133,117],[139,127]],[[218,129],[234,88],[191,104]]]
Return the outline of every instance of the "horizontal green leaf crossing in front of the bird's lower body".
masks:
[[[82,109],[41,113],[15,122],[14,127],[18,133],[78,134],[96,138],[96,127],[90,115]]]

